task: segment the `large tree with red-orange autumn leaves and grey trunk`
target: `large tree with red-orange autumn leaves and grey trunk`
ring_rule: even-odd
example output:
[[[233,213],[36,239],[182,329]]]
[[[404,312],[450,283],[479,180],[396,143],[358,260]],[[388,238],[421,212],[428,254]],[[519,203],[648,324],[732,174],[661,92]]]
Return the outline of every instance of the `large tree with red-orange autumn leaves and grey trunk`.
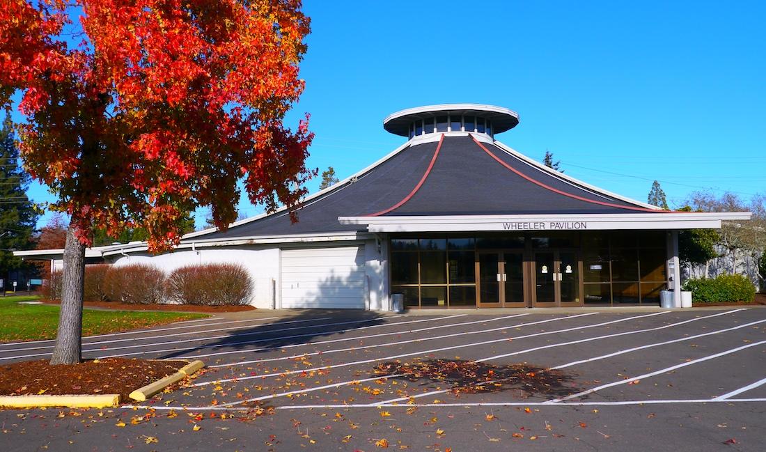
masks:
[[[21,91],[25,166],[70,215],[57,341],[80,329],[93,228],[116,235],[141,226],[150,249],[164,251],[198,206],[211,206],[219,228],[234,221],[238,181],[268,209],[305,194],[313,134],[307,120],[296,131],[283,126],[304,85],[309,19],[300,8],[300,0],[5,2],[0,105]],[[77,350],[57,342],[52,362],[79,361],[79,334]]]

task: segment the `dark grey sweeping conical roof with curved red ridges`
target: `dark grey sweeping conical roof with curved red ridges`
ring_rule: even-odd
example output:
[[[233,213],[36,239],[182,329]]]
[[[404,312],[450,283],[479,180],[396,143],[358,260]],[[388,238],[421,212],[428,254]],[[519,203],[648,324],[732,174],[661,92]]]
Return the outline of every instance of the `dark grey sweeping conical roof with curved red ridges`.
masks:
[[[205,239],[365,231],[339,217],[406,215],[545,215],[653,212],[549,172],[473,135],[407,146],[367,172],[308,198],[299,221],[287,211],[254,218]],[[358,228],[358,229],[356,229]],[[197,235],[199,237],[199,235]]]

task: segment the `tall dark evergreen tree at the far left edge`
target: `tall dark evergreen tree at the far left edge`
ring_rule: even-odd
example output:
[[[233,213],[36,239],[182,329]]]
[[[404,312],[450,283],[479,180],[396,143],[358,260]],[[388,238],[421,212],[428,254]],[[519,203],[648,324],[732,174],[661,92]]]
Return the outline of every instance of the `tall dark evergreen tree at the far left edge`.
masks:
[[[29,180],[18,160],[13,123],[6,111],[0,129],[0,279],[6,282],[9,272],[33,268],[12,252],[34,247],[32,234],[38,213],[26,194]]]

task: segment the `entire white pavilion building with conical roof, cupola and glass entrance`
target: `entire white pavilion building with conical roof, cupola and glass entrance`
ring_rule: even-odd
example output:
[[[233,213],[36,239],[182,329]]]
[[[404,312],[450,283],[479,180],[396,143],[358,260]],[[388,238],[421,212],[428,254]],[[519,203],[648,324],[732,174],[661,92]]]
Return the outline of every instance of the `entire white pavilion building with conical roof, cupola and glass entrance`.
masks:
[[[165,254],[135,242],[86,257],[167,272],[242,264],[259,308],[390,310],[391,293],[411,309],[655,304],[679,281],[680,229],[751,216],[662,211],[549,169],[496,141],[518,118],[476,104],[403,110],[384,127],[408,141],[305,198],[295,224],[282,209]]]

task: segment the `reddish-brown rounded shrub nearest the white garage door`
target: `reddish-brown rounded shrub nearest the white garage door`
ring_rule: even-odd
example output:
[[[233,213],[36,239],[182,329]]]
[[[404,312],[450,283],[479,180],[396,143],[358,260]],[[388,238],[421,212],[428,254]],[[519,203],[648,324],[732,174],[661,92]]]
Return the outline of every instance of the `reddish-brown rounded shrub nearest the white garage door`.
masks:
[[[238,264],[201,264],[180,267],[168,277],[170,300],[205,306],[250,303],[253,281]]]

